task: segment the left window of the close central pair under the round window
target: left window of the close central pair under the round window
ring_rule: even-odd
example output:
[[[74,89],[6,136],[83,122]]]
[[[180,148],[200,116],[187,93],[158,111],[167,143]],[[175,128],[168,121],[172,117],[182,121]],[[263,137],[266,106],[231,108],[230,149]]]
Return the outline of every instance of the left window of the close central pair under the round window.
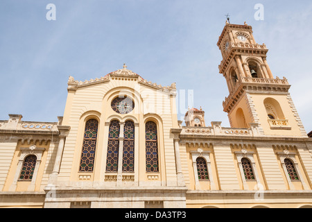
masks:
[[[107,172],[118,171],[119,132],[120,132],[119,121],[112,120],[110,122],[110,130],[108,133],[107,161],[106,161]]]

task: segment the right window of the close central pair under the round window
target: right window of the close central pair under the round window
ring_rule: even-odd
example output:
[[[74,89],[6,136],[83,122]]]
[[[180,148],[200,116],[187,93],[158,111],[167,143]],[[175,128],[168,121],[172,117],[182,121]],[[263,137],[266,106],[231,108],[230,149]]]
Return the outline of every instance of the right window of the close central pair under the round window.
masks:
[[[123,131],[123,172],[135,171],[135,123],[125,121]]]

